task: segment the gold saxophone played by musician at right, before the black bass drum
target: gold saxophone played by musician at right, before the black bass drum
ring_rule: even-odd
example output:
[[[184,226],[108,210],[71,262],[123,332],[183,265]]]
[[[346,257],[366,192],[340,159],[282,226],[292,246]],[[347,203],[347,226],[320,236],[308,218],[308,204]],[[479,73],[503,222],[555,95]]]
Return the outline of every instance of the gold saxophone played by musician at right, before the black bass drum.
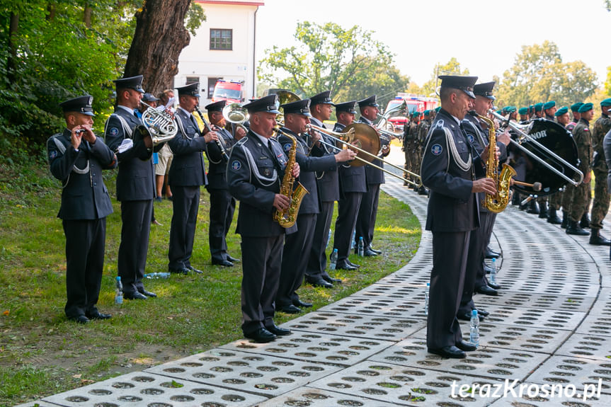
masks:
[[[488,159],[486,160],[486,178],[492,178],[496,185],[494,195],[486,194],[484,207],[490,212],[503,212],[507,207],[511,193],[509,190],[511,177],[515,176],[513,167],[503,164],[501,173],[498,173],[498,159],[496,158],[496,132],[494,122],[488,117],[477,115],[479,120],[483,120],[488,125]]]

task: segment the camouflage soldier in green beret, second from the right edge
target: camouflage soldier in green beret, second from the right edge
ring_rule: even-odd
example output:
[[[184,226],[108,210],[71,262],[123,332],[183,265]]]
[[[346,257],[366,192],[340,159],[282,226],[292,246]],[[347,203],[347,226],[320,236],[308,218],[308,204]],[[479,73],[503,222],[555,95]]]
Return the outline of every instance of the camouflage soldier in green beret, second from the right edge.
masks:
[[[588,190],[590,189],[590,161],[592,161],[592,137],[590,134],[590,120],[594,116],[592,103],[586,103],[579,108],[581,119],[573,129],[573,137],[577,143],[577,150],[580,159],[579,170],[583,173],[583,183],[573,188],[573,200],[571,202],[571,212],[569,212],[569,224],[566,227],[566,234],[577,234],[586,236],[588,231],[581,229],[577,223],[581,219],[583,212],[588,212]]]

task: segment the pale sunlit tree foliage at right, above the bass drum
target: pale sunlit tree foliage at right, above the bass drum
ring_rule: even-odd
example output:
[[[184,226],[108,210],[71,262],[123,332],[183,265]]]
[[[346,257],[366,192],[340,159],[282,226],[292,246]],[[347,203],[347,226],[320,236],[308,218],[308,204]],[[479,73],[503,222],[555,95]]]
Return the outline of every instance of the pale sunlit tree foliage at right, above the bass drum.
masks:
[[[498,106],[585,101],[597,88],[596,74],[582,61],[562,62],[554,42],[525,45],[498,85]]]

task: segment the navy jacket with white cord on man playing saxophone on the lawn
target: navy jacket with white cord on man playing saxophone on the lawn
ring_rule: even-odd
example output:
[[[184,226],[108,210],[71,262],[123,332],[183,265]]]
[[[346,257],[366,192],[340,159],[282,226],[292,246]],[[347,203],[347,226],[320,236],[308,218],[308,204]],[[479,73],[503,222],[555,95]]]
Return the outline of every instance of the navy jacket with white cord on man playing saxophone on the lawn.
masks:
[[[229,156],[227,185],[229,193],[240,201],[236,233],[241,236],[271,237],[285,234],[285,228],[273,220],[276,210],[273,202],[275,194],[280,193],[287,156],[276,139],[270,140],[273,152],[249,130],[234,145]],[[275,154],[277,164],[271,154]]]

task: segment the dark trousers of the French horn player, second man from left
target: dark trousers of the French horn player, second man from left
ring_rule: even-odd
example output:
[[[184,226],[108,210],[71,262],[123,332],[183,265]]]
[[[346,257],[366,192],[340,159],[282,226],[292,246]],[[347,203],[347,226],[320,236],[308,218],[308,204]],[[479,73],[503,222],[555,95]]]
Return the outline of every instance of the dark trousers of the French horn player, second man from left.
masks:
[[[121,202],[118,274],[125,294],[144,290],[142,278],[147,266],[152,214],[152,199]]]

